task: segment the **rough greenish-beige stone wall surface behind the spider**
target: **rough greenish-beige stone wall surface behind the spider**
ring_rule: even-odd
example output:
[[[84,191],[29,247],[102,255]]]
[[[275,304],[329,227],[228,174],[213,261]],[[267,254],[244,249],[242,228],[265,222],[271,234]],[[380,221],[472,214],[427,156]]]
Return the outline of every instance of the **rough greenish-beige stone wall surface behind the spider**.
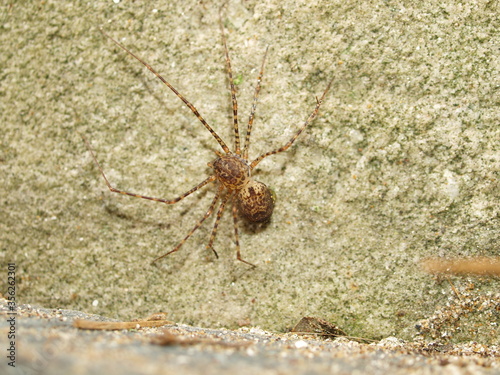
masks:
[[[232,146],[218,3],[165,3],[1,9],[0,262],[15,264],[20,302],[281,332],[317,316],[353,336],[409,339],[460,295],[498,301],[498,279],[453,277],[457,296],[419,267],[500,252],[497,2],[229,2],[242,124],[270,46],[251,158],[284,144],[333,79],[320,117],[255,173],[277,194],[266,228],[241,228],[255,269],[236,261],[230,215],[219,259],[205,248],[207,220],[151,265],[202,217],[214,186],[173,206],[112,194],[80,137],[116,187],[164,198],[203,180],[220,150],[103,26]],[[498,343],[498,310],[465,315],[450,340]]]

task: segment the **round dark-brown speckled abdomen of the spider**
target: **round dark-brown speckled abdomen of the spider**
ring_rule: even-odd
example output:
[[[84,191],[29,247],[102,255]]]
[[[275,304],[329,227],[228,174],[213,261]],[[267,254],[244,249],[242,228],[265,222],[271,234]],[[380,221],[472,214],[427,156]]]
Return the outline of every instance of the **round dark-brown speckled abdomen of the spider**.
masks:
[[[248,221],[268,221],[273,214],[274,200],[274,195],[265,184],[250,180],[238,191],[238,210]]]

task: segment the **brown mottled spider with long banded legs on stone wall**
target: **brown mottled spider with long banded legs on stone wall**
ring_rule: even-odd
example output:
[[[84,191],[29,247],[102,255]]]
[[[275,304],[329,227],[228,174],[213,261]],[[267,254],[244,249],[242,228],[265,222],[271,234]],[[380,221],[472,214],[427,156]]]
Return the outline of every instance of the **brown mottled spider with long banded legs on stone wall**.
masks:
[[[109,36],[102,28],[100,28],[100,32],[109,40],[111,40],[114,44],[124,50],[127,54],[138,60],[141,64],[143,64],[148,70],[150,70],[160,81],[162,81],[180,100],[184,102],[184,104],[193,112],[193,114],[198,118],[198,120],[205,126],[205,128],[212,134],[215,140],[219,143],[222,148],[221,151],[215,151],[217,158],[208,163],[208,166],[213,169],[213,173],[207,177],[205,180],[200,182],[198,185],[193,187],[192,189],[186,191],[184,194],[178,196],[174,199],[163,199],[163,198],[154,198],[148,197],[141,194],[130,193],[128,191],[123,191],[114,188],[109,182],[108,178],[104,174],[104,170],[97,161],[97,157],[95,156],[92,147],[90,146],[89,141],[83,137],[85,144],[90,151],[92,158],[101,172],[102,177],[108,187],[108,189],[113,193],[119,193],[123,195],[129,195],[136,198],[148,199],[155,202],[161,202],[165,204],[174,204],[182,199],[186,198],[188,195],[194,193],[195,191],[201,189],[202,187],[208,185],[211,182],[217,183],[217,191],[215,196],[212,199],[212,203],[208,207],[205,215],[196,223],[196,225],[189,231],[189,233],[169,252],[157,257],[153,260],[153,263],[178,251],[181,246],[188,240],[189,237],[193,235],[193,233],[203,224],[203,222],[214,212],[217,203],[221,201],[219,208],[217,209],[217,217],[215,219],[215,223],[212,229],[212,233],[210,235],[210,240],[208,242],[207,248],[211,249],[215,254],[215,257],[218,258],[218,254],[213,247],[213,243],[215,240],[215,236],[217,234],[217,228],[219,226],[219,222],[221,220],[224,209],[228,203],[232,203],[232,212],[233,212],[233,221],[234,221],[234,235],[235,235],[235,244],[236,244],[236,258],[248,264],[249,266],[255,267],[254,264],[244,260],[241,257],[240,253],[240,244],[239,244],[239,236],[238,236],[238,213],[247,221],[255,222],[255,223],[263,223],[268,222],[271,218],[274,209],[275,198],[271,192],[271,190],[262,182],[255,181],[252,178],[252,170],[265,158],[268,156],[278,154],[280,152],[288,150],[288,148],[297,140],[300,134],[304,131],[304,129],[314,120],[319,112],[319,108],[323,103],[323,100],[330,89],[332,81],[330,81],[318,99],[316,98],[316,106],[311,114],[307,117],[304,124],[295,132],[295,134],[290,138],[290,140],[283,146],[266,152],[253,161],[249,161],[248,151],[250,147],[250,135],[252,132],[252,125],[255,116],[255,110],[257,107],[257,99],[259,96],[262,77],[264,76],[264,65],[267,57],[268,48],[264,53],[264,57],[262,59],[262,64],[260,68],[260,72],[257,78],[257,84],[255,86],[255,91],[253,95],[253,103],[250,111],[250,116],[248,119],[247,131],[245,135],[245,142],[243,148],[240,145],[240,132],[238,125],[238,103],[236,100],[236,90],[234,87],[233,81],[233,73],[231,70],[231,60],[229,58],[229,51],[226,43],[226,36],[224,32],[224,26],[222,24],[222,16],[219,13],[219,26],[222,34],[222,44],[224,46],[225,59],[226,59],[226,69],[227,75],[229,78],[230,89],[231,89],[231,100],[232,100],[232,108],[233,108],[233,129],[234,129],[234,150],[231,151],[227,144],[222,140],[222,138],[212,129],[212,127],[205,121],[205,119],[200,115],[198,110],[194,107],[191,102],[189,102],[184,95],[179,93],[169,82],[167,82],[155,69],[153,69],[149,64],[147,64],[140,57],[136,56],[133,52],[131,52],[127,47],[125,47],[120,42],[113,39]]]

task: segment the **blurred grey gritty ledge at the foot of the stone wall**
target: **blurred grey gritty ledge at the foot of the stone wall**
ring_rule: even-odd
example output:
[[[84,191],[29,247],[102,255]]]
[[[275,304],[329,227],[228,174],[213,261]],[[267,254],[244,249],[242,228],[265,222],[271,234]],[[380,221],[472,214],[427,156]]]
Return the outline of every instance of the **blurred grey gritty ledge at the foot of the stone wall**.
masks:
[[[1,301],[2,346],[8,330]],[[16,367],[7,374],[498,374],[500,350],[468,343],[438,345],[388,337],[347,338],[271,333],[259,328],[205,329],[169,324],[101,331],[75,319],[113,321],[78,311],[22,305],[16,316]]]

